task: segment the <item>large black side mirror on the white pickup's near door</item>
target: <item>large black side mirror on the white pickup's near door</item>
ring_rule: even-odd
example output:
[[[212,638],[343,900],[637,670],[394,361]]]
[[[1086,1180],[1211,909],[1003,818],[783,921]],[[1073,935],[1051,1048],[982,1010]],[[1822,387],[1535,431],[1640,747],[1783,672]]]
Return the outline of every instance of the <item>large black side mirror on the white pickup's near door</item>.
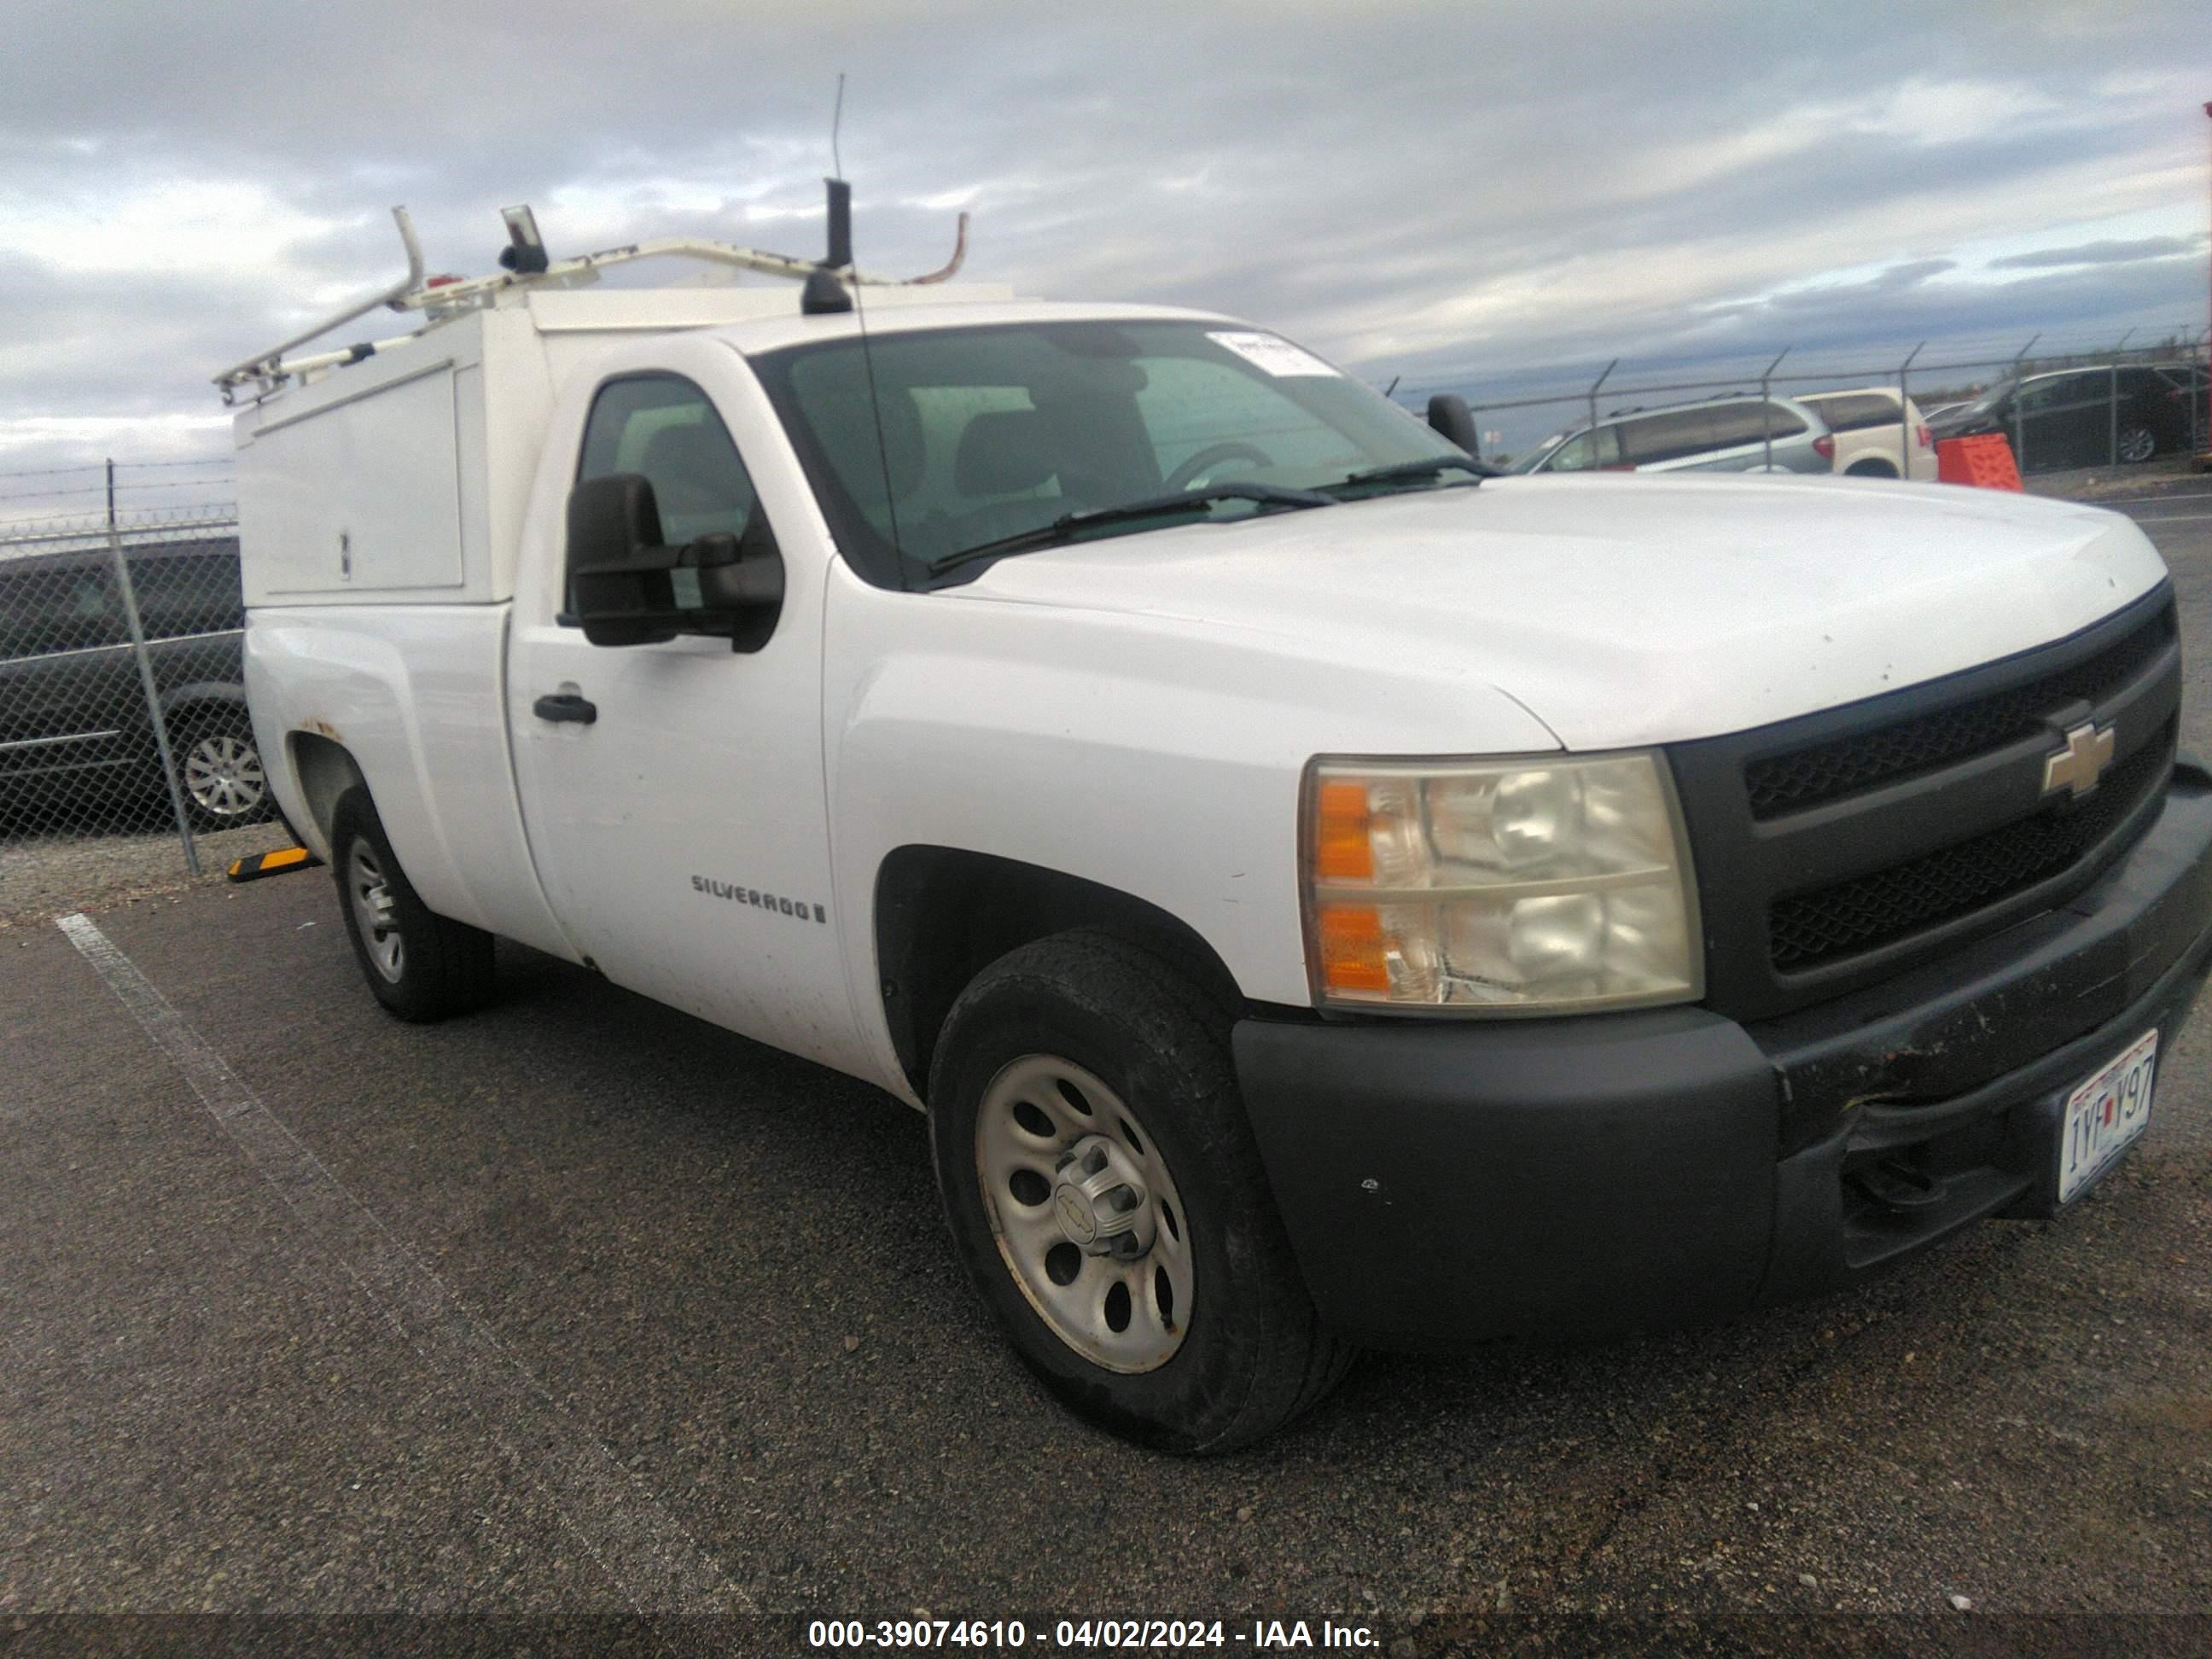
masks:
[[[697,633],[759,650],[783,611],[783,555],[759,507],[743,535],[666,546],[648,478],[586,478],[568,491],[568,606],[560,622],[595,646]]]

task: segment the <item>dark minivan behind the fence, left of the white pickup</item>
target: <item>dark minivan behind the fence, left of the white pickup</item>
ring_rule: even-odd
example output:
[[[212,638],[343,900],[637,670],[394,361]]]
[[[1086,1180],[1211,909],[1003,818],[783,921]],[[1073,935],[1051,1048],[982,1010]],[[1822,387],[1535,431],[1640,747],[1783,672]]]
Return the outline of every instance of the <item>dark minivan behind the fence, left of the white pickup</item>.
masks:
[[[239,672],[237,540],[126,557],[192,823],[228,830],[270,816]],[[161,799],[161,754],[108,551],[0,557],[0,814],[146,816]]]

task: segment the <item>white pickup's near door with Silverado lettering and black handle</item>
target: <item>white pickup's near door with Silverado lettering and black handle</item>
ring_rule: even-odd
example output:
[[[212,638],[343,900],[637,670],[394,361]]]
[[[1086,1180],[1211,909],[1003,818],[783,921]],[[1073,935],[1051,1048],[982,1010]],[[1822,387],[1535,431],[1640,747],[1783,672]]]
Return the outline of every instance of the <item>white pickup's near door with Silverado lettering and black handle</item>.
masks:
[[[568,482],[641,473],[668,546],[710,533],[759,542],[776,524],[748,451],[787,456],[743,358],[714,341],[661,341],[655,367],[611,374],[593,394]],[[823,803],[825,549],[803,533],[779,546],[783,606],[752,650],[684,633],[593,646],[560,622],[566,513],[544,504],[518,571],[509,730],[555,916],[617,984],[841,1064],[852,1006]],[[675,584],[679,606],[699,604],[695,571]]]

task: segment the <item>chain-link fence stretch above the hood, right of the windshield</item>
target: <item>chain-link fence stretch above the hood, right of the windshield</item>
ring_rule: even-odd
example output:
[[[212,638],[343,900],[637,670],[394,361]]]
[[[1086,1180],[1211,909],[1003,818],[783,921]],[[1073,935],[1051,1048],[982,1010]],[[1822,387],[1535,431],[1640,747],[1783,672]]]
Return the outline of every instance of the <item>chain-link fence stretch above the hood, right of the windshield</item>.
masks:
[[[1635,467],[1635,434],[1617,438],[1613,429],[1619,422],[1732,398],[1820,400],[1814,411],[1843,440],[1854,427],[1838,425],[1834,416],[1849,405],[1829,405],[1827,398],[1865,392],[1880,394],[1887,414],[1854,416],[1867,436],[1838,442],[1836,471],[1931,478],[1933,440],[1982,431],[2004,434],[2022,473],[2117,469],[2212,449],[2205,334],[2177,330],[2157,343],[2135,343],[2126,334],[2066,349],[2044,345],[2042,352],[2042,336],[2033,336],[2002,356],[1947,354],[1931,361],[1913,349],[1887,363],[1836,352],[1798,354],[1792,347],[1745,361],[1725,376],[1699,365],[1694,376],[1637,378],[1621,374],[1615,358],[1573,387],[1559,385],[1564,376],[1557,374],[1524,372],[1489,387],[1471,380],[1394,385],[1394,396],[1464,396],[1482,429],[1484,456],[1500,465],[1526,462],[1564,438],[1564,458],[1542,462],[1546,469]],[[1918,422],[1898,418],[1907,400]],[[1772,422],[1792,431],[1778,405]],[[1916,425],[1929,429],[1927,440]],[[1577,447],[1577,434],[1593,434],[1593,442]],[[1756,456],[1752,465],[1759,465]]]

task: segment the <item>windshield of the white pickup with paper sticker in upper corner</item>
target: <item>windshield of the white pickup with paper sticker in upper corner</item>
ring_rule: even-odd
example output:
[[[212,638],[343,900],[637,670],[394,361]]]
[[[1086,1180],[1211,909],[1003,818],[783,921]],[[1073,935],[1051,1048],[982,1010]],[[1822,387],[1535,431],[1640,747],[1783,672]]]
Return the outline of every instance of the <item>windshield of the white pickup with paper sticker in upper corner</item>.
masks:
[[[845,560],[880,586],[1018,546],[1071,515],[1075,535],[1274,511],[1265,489],[1345,500],[1464,484],[1464,456],[1369,387],[1287,341],[1206,321],[947,327],[794,345],[752,361]],[[874,396],[872,396],[874,387]],[[1115,515],[1214,491],[1201,511]],[[1199,502],[1194,502],[1194,509]]]

